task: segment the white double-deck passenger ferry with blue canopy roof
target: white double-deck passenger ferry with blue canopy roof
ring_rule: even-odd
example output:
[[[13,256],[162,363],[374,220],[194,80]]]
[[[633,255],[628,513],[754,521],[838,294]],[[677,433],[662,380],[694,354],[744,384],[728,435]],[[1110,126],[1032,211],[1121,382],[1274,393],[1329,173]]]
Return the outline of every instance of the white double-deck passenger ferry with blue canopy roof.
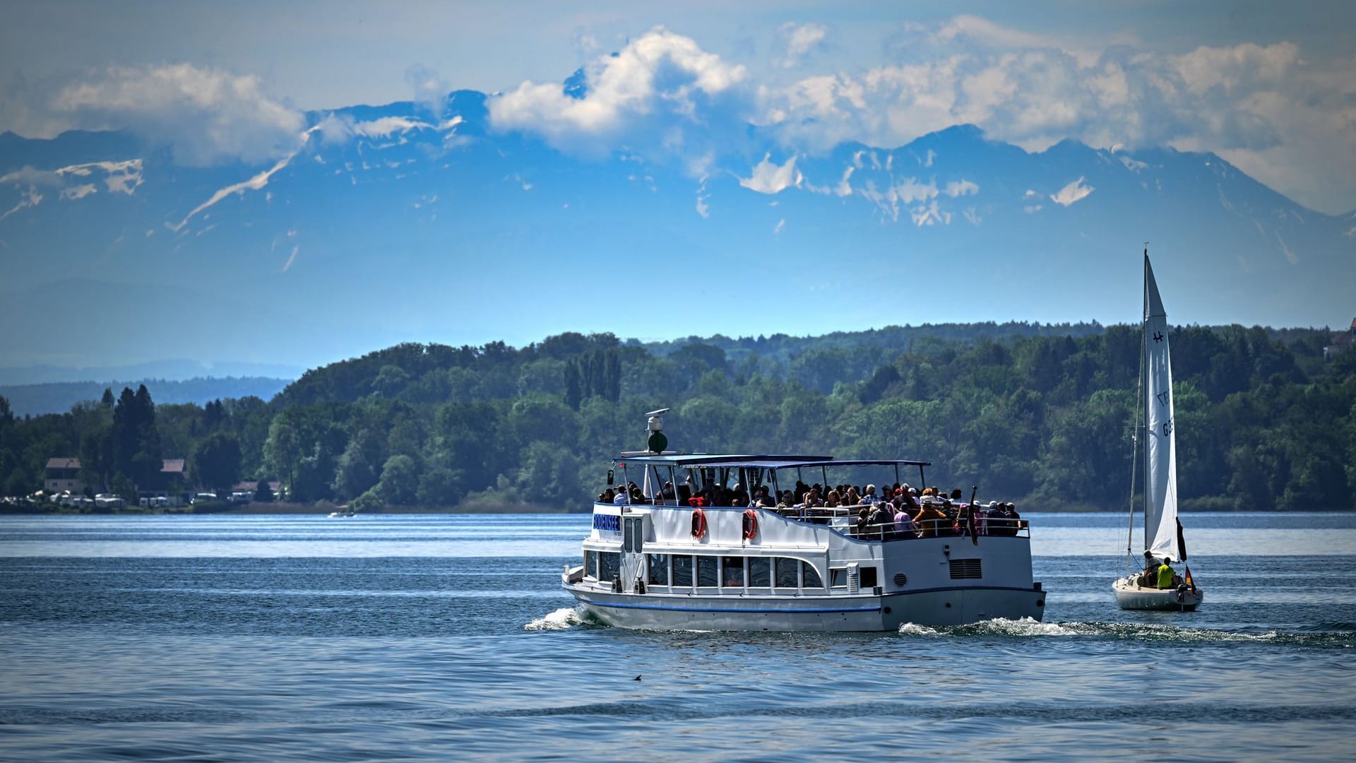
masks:
[[[561,573],[565,591],[599,620],[652,630],[880,631],[1041,619],[1045,591],[1032,580],[1025,521],[961,521],[959,529],[937,520],[918,536],[892,521],[860,525],[860,506],[723,505],[759,487],[784,496],[805,481],[827,486],[861,474],[892,485],[914,468],[925,485],[928,462],[678,453],[664,451],[666,410],[647,414],[651,449],[621,453],[607,472],[610,485],[635,483],[645,497],[595,502],[583,565]]]

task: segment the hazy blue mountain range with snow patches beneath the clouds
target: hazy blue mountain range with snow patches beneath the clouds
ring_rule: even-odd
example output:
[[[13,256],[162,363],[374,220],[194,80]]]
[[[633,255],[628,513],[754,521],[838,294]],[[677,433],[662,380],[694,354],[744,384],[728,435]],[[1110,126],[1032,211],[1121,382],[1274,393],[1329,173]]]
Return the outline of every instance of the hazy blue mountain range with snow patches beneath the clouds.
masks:
[[[496,132],[472,91],[308,119],[294,151],[214,167],[126,132],[0,134],[0,367],[1128,323],[1146,240],[1173,322],[1356,315],[1356,213],[1299,206],[1212,153],[1026,152],[972,126],[810,153],[750,129],[696,172]]]

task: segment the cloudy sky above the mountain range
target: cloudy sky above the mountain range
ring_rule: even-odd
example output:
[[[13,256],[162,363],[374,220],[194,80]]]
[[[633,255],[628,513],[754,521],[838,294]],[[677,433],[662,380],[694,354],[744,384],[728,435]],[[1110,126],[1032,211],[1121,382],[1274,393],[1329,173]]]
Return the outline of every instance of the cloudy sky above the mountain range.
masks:
[[[698,84],[666,91],[662,64]],[[579,67],[609,83],[583,109],[552,92]],[[1356,209],[1356,3],[0,5],[0,129],[28,137],[130,128],[190,162],[263,160],[301,110],[457,88],[502,92],[502,126],[572,151],[674,145],[644,117],[675,109],[799,147],[975,122],[1028,149],[1214,151],[1310,208]]]

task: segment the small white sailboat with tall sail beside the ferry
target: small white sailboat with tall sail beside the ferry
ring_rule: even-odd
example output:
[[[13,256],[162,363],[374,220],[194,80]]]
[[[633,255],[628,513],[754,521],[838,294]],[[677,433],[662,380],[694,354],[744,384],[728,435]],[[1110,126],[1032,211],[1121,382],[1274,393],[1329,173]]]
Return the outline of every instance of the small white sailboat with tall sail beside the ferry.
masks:
[[[1131,544],[1135,536],[1135,501],[1130,502],[1130,532],[1125,543],[1125,577],[1112,584],[1121,610],[1193,611],[1205,599],[1196,587],[1186,562],[1186,539],[1177,519],[1177,436],[1173,426],[1173,372],[1168,354],[1168,312],[1158,296],[1154,269],[1144,250],[1144,322],[1140,354],[1139,407],[1143,418],[1136,440],[1144,458],[1144,572],[1135,573]],[[1134,482],[1134,477],[1131,477]],[[1134,491],[1132,491],[1134,493]],[[1173,570],[1170,585],[1158,585],[1163,562],[1182,563]]]

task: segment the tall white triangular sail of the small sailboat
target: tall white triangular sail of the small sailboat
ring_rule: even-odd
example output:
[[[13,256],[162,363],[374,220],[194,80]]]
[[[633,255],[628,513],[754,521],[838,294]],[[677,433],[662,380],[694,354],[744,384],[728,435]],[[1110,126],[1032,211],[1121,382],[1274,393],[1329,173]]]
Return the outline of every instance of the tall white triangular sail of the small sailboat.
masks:
[[[1144,548],[1181,561],[1177,543],[1177,436],[1168,312],[1144,253]]]

